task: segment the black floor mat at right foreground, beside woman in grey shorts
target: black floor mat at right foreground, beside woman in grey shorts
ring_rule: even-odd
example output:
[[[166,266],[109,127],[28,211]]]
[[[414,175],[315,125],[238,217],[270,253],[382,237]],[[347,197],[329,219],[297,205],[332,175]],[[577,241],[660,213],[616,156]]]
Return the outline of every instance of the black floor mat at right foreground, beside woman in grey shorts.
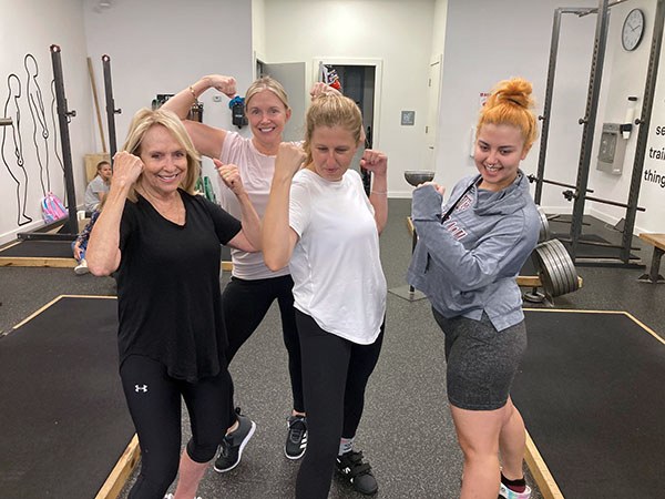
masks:
[[[623,312],[525,315],[512,398],[546,464],[531,457],[543,497],[662,497],[665,342]]]

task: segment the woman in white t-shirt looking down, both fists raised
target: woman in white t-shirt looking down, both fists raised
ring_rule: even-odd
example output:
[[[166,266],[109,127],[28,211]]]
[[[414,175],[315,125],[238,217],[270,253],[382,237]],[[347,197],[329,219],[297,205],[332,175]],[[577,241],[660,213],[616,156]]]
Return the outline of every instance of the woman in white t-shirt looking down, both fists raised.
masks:
[[[335,466],[359,492],[378,490],[354,438],[383,336],[379,234],[388,216],[388,160],[365,151],[360,164],[374,174],[368,198],[349,170],[361,139],[354,101],[337,92],[316,96],[304,151],[279,146],[264,216],[266,265],[288,264],[294,278],[309,431],[296,483],[301,499],[327,498]]]

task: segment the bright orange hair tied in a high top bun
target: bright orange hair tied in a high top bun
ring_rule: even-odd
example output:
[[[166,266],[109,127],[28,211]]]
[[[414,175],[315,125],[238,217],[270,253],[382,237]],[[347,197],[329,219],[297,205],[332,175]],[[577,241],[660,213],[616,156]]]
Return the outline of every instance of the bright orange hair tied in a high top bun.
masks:
[[[535,114],[531,98],[533,86],[523,78],[512,78],[497,83],[480,110],[477,133],[485,124],[510,124],[522,132],[524,149],[529,151],[538,138]]]

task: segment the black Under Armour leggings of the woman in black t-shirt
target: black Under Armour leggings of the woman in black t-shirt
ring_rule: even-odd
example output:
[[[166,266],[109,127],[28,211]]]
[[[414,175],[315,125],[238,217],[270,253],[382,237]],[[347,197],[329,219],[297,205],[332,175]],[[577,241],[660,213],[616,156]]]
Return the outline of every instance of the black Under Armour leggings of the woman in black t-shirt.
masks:
[[[187,383],[166,374],[166,367],[140,355],[127,357],[120,376],[141,446],[141,472],[130,499],[163,499],[177,473],[182,429],[181,396],[190,413],[192,438],[187,455],[196,462],[215,457],[228,427],[231,376]]]

